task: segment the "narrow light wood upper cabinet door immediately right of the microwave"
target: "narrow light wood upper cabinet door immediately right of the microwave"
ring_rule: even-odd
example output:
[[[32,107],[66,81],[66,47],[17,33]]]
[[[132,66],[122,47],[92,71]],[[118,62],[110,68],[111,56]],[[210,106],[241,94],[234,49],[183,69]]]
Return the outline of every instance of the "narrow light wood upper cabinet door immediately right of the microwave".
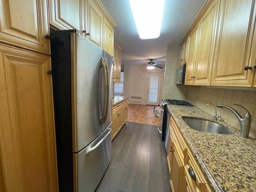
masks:
[[[198,48],[198,25],[188,36],[188,60],[186,64],[185,84],[191,85],[194,83],[194,69],[196,64],[196,50]]]

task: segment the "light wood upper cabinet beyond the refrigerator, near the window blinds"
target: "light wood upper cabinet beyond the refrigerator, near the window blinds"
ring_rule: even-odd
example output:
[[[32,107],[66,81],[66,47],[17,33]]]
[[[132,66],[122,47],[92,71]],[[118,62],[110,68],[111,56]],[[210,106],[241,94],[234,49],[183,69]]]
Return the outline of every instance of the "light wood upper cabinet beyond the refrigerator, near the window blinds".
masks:
[[[114,68],[113,81],[120,82],[121,79],[122,48],[114,42]]]

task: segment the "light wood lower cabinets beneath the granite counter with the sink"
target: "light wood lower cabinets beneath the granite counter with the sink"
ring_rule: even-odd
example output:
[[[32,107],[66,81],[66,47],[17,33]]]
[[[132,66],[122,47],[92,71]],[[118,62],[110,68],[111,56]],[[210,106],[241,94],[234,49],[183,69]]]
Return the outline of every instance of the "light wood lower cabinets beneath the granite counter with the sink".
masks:
[[[171,118],[167,162],[172,192],[212,192],[208,180],[173,118]],[[188,169],[194,172],[196,180],[190,176]]]

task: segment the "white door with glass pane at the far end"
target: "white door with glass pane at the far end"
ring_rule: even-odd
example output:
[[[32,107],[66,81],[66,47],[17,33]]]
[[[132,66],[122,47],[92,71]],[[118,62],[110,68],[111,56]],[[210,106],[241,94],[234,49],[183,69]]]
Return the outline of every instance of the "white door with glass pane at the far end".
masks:
[[[160,100],[162,73],[148,73],[147,105],[158,105]]]

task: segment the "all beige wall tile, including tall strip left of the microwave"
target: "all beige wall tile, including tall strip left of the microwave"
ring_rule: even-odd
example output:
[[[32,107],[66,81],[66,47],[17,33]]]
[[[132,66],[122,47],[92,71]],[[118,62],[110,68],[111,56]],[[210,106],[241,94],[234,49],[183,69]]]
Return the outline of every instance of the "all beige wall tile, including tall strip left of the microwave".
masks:
[[[175,76],[179,60],[179,46],[168,46],[166,54],[166,68],[164,73],[163,99],[186,100],[202,110],[214,115],[212,106],[207,103],[224,104],[237,110],[241,116],[245,111],[234,105],[240,104],[249,110],[252,115],[252,122],[249,136],[256,139],[256,91],[223,89],[206,86],[176,85]],[[217,108],[217,114],[228,124],[240,130],[240,124],[232,112],[226,109]]]

